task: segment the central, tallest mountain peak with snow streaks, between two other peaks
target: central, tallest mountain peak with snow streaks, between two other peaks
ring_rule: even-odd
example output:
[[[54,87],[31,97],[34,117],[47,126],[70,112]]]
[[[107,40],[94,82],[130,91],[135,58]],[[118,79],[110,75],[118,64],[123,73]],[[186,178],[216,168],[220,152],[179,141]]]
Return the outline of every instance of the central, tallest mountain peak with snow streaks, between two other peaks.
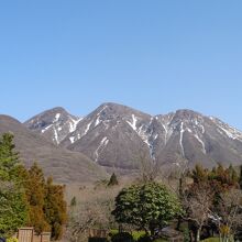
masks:
[[[148,152],[145,129],[151,116],[125,106],[103,103],[84,118],[61,143],[102,166],[135,168],[140,150]]]

